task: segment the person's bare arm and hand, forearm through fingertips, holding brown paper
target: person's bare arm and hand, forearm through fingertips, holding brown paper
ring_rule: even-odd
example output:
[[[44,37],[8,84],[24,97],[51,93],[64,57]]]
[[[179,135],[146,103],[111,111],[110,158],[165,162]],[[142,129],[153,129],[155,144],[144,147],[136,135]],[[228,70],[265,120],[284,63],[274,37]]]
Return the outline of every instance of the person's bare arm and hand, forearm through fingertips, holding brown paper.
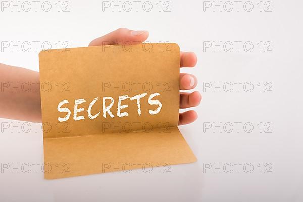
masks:
[[[121,44],[124,42],[144,42],[148,38],[147,31],[133,31],[126,28],[117,29],[102,37],[96,38],[89,46]],[[193,52],[180,52],[180,67],[194,67],[197,57]],[[0,63],[0,117],[22,121],[41,122],[41,100],[39,72],[21,67],[14,67]],[[31,90],[24,85],[25,90],[13,89],[12,86],[20,86],[24,83],[31,85]],[[197,85],[194,75],[180,73],[180,90],[190,90]],[[20,89],[20,87],[19,87]],[[198,106],[201,102],[201,94],[198,91],[187,93],[180,92],[180,108]],[[197,113],[189,110],[179,115],[179,125],[189,124],[197,119]]]

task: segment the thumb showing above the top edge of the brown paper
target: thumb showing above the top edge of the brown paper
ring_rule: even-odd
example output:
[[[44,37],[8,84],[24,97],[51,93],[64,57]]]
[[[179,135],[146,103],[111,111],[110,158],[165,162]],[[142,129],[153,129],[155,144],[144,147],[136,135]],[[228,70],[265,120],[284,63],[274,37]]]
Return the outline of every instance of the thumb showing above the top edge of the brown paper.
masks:
[[[148,38],[148,35],[148,31],[134,31],[120,28],[102,37],[94,39],[88,46],[114,45],[124,42],[142,43]]]

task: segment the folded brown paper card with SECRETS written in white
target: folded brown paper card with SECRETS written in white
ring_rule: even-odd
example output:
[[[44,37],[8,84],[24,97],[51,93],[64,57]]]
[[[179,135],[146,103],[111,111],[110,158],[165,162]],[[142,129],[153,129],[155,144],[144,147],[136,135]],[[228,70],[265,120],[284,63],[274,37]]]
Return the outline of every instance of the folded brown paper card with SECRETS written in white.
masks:
[[[46,179],[196,161],[177,125],[179,47],[39,54]]]

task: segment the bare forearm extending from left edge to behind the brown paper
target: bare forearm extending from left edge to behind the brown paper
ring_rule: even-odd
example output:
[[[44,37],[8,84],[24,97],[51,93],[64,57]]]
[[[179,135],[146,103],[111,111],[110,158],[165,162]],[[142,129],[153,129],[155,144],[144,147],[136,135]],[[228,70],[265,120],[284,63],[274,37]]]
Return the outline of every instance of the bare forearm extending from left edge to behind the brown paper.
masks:
[[[0,117],[41,122],[39,72],[0,63]]]

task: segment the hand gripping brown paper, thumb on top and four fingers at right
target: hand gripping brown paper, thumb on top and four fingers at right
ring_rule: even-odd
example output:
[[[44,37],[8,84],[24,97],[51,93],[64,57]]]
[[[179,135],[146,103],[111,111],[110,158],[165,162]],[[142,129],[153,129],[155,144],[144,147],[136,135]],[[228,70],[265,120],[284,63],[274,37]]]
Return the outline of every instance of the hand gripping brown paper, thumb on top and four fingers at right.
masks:
[[[96,38],[89,43],[89,46],[114,45],[124,42],[144,42],[148,38],[147,31],[133,31],[126,28],[117,29],[102,37]],[[194,67],[197,57],[193,52],[180,52],[180,67]],[[192,74],[180,73],[180,90],[190,90],[196,87],[197,78]],[[180,108],[198,106],[201,102],[201,94],[198,91],[187,93],[180,92]],[[189,124],[197,119],[198,115],[194,110],[179,114],[179,125]]]

